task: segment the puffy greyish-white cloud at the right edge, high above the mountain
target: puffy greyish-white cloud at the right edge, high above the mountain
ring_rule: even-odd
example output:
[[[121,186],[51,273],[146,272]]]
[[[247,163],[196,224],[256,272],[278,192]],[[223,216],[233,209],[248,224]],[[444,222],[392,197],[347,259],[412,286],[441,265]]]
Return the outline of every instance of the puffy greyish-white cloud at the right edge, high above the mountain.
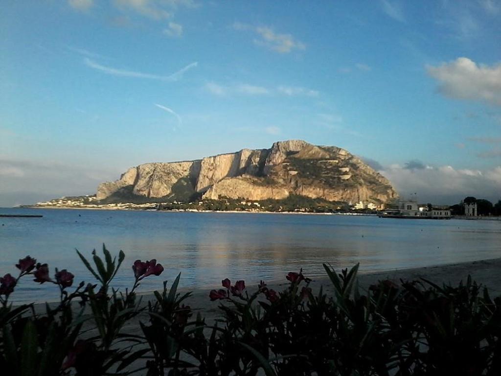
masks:
[[[477,65],[462,57],[438,67],[427,66],[427,71],[439,82],[438,90],[450,98],[501,106],[501,64]]]

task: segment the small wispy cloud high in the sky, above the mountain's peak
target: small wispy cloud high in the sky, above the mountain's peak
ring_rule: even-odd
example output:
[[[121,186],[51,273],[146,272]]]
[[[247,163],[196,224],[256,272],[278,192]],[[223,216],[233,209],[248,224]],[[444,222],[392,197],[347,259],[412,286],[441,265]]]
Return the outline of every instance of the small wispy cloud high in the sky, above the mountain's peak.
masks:
[[[291,34],[279,34],[268,26],[254,27],[252,25],[235,22],[233,29],[241,31],[252,31],[258,35],[258,39],[254,43],[259,46],[264,46],[272,51],[281,54],[287,54],[293,50],[305,50],[306,45],[296,40]]]

